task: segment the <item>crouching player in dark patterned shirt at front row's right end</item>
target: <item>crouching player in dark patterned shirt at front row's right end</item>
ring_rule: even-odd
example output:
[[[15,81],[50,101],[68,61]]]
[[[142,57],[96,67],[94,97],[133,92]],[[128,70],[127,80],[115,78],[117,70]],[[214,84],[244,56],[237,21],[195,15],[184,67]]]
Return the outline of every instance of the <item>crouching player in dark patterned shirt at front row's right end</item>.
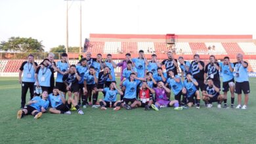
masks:
[[[211,78],[207,79],[207,84],[203,88],[203,101],[207,103],[207,107],[213,107],[213,102],[218,102],[218,108],[221,108],[221,102],[224,99],[222,94],[219,94],[220,88],[213,84],[213,80]]]

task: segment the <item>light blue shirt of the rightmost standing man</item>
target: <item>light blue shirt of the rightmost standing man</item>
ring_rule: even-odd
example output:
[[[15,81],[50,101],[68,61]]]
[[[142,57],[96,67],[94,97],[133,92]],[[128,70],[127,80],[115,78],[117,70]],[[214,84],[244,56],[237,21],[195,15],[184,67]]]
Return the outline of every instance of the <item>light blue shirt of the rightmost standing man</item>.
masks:
[[[245,62],[247,63],[247,62]],[[247,67],[248,67],[248,63],[247,63]],[[249,77],[248,77],[248,70],[247,67],[243,67],[242,63],[234,63],[234,70],[236,73],[236,82],[245,82],[245,81],[249,81]]]

